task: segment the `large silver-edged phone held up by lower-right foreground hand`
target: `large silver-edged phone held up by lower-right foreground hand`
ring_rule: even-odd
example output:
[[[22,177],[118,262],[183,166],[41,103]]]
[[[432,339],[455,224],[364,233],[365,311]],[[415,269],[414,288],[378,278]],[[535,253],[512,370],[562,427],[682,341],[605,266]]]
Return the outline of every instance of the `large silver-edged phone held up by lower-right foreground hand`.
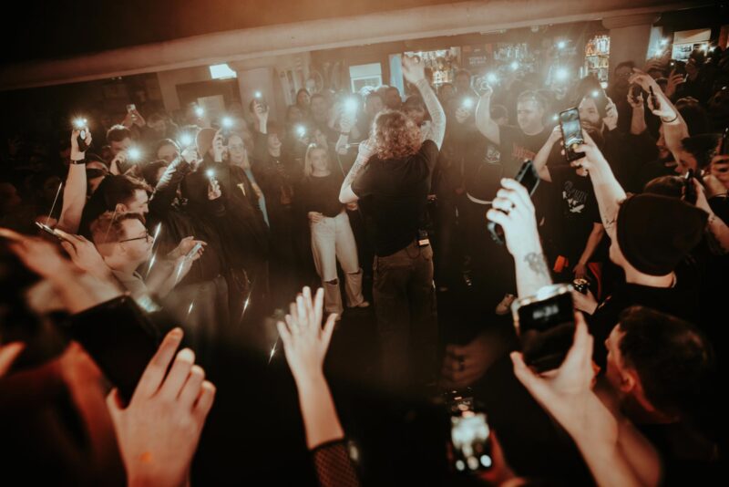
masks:
[[[537,372],[559,368],[575,334],[571,285],[548,285],[511,305],[524,362]]]

